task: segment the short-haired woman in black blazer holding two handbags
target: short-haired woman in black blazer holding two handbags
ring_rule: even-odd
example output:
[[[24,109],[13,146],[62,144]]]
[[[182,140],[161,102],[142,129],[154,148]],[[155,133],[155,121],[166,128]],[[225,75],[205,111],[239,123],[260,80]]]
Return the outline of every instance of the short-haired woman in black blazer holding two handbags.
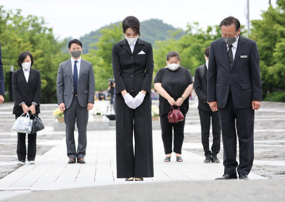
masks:
[[[40,72],[32,69],[34,64],[32,54],[28,51],[21,52],[18,58],[18,65],[21,67],[12,74],[12,87],[15,104],[13,114],[16,119],[23,113],[40,113],[41,80]],[[34,117],[31,115],[31,119]],[[18,132],[17,155],[18,164],[26,163],[26,133]],[[28,154],[29,164],[34,164],[36,157],[36,133],[28,134]]]

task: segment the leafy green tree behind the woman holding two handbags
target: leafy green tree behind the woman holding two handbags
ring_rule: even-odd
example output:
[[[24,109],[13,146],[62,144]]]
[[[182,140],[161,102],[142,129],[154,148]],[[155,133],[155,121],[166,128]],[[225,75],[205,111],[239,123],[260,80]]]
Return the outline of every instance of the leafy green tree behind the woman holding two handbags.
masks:
[[[40,103],[56,103],[56,76],[60,62],[70,55],[63,54],[61,49],[66,41],[58,42],[52,28],[45,26],[43,18],[28,15],[23,17],[21,10],[13,13],[0,7],[0,38],[5,74],[5,89],[9,89],[10,66],[15,70],[18,56],[22,51],[29,51],[34,58],[33,68],[40,71],[42,96]],[[6,99],[7,100],[7,99]]]

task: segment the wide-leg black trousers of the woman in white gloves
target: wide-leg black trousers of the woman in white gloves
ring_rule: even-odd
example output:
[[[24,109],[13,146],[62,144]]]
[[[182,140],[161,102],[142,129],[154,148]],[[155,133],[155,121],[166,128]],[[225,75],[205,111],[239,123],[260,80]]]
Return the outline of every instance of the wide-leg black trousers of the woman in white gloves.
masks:
[[[131,93],[135,97],[135,93]],[[151,97],[146,93],[136,109],[116,95],[117,178],[153,177]],[[133,149],[135,136],[135,153]]]

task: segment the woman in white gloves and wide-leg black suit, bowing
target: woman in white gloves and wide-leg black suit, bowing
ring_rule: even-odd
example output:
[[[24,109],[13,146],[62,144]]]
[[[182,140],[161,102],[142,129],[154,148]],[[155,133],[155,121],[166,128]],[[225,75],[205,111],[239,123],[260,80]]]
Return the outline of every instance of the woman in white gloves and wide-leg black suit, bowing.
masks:
[[[141,28],[136,17],[126,17],[122,25],[125,39],[115,43],[112,49],[116,87],[117,178],[133,181],[135,177],[139,181],[143,177],[153,177],[152,46],[139,38]]]

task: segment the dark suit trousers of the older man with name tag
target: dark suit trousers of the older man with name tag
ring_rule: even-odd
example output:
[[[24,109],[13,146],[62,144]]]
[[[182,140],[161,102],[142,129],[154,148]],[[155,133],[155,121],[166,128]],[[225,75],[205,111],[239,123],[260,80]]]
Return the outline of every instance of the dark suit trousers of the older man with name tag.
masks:
[[[224,146],[224,174],[249,174],[254,158],[254,110],[252,108],[237,109],[233,105],[233,98],[229,92],[225,107],[218,108],[218,111]],[[239,165],[236,160],[237,136],[239,138]]]

